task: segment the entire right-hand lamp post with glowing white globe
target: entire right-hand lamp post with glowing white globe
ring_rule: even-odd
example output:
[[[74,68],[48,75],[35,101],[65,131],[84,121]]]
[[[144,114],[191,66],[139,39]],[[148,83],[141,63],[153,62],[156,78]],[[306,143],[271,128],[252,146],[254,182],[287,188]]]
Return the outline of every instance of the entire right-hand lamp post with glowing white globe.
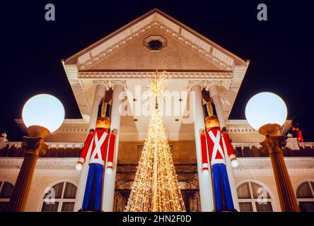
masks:
[[[245,107],[245,117],[250,126],[265,136],[261,145],[267,148],[272,160],[274,179],[283,212],[299,212],[296,195],[284,162],[284,137],[279,131],[286,121],[287,109],[284,100],[274,93],[258,93]]]

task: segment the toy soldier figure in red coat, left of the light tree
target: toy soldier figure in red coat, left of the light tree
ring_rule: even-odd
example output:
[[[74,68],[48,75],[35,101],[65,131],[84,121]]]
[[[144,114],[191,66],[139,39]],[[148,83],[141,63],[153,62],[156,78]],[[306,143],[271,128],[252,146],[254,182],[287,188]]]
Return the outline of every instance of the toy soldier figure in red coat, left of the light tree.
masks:
[[[95,130],[89,131],[76,164],[78,170],[82,168],[85,161],[88,161],[89,165],[81,211],[101,210],[105,165],[106,173],[112,172],[116,134],[114,131],[110,133],[110,105],[103,102],[100,107],[100,116],[96,121]]]

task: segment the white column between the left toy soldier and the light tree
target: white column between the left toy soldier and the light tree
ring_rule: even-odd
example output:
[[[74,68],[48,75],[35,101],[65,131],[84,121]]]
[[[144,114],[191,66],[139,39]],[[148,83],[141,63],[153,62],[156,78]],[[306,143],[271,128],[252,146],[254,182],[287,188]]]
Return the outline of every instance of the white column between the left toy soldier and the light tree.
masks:
[[[105,181],[103,187],[103,211],[112,212],[113,201],[115,196],[115,174],[117,172],[117,156],[119,150],[119,133],[121,124],[120,105],[120,93],[124,91],[125,81],[112,81],[112,110],[111,110],[111,125],[110,130],[117,130],[117,136],[115,137],[115,152],[113,157],[112,172],[110,174],[105,173]]]

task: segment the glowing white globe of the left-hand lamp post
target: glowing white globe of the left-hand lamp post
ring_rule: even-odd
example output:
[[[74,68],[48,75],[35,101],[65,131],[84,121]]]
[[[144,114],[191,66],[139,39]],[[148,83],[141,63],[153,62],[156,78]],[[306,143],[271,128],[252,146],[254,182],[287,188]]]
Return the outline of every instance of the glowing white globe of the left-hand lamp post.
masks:
[[[53,133],[64,121],[64,107],[62,102],[52,95],[35,95],[25,103],[22,118],[28,129],[37,126]]]

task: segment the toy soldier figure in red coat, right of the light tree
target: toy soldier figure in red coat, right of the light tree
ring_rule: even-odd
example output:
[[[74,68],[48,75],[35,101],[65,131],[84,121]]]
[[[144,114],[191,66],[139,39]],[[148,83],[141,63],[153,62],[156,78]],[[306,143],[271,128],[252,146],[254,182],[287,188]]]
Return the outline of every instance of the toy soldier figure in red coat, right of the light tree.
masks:
[[[238,166],[236,155],[226,128],[220,129],[219,120],[214,115],[210,102],[204,105],[204,113],[206,131],[201,132],[203,173],[209,173],[210,161],[215,211],[236,211],[226,170],[225,153],[229,155],[233,167]]]

